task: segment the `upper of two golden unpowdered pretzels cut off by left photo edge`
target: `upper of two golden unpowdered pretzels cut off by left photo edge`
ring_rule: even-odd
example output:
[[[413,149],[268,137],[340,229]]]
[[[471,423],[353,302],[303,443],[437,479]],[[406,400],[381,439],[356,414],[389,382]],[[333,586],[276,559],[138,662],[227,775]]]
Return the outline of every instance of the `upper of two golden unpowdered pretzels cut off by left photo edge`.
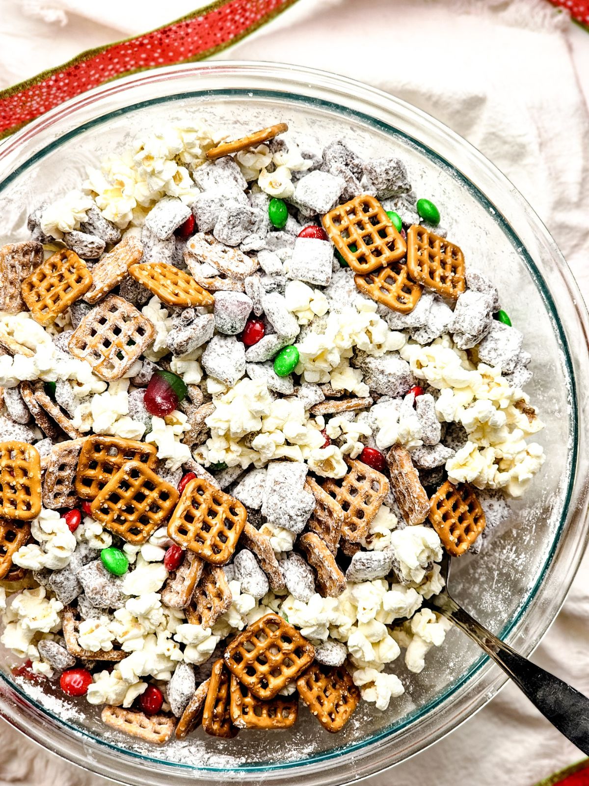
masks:
[[[31,521],[41,512],[41,459],[27,443],[0,443],[0,518]]]

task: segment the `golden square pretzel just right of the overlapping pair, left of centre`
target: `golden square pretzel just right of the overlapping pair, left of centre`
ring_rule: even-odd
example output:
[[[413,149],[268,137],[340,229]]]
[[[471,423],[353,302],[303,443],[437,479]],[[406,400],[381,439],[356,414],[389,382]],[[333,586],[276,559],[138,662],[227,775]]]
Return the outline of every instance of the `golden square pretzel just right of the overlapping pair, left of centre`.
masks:
[[[247,511],[202,478],[190,481],[168,523],[170,538],[205,562],[224,565],[236,549]]]

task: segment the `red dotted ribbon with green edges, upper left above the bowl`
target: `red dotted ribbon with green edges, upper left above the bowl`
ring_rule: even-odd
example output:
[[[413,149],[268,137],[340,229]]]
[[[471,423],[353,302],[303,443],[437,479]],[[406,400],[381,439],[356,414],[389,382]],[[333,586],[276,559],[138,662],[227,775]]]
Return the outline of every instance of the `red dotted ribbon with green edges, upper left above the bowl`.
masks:
[[[203,60],[240,41],[296,0],[218,0],[136,38],[82,52],[0,91],[0,139],[49,109],[119,76]]]

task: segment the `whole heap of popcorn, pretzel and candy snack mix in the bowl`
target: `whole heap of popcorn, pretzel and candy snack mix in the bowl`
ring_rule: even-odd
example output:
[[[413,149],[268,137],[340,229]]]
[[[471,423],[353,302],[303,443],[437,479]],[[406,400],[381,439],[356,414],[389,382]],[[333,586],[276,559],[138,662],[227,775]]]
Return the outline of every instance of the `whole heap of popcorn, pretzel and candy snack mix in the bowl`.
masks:
[[[0,641],[153,744],[385,711],[544,461],[404,163],[287,132],[144,134],[0,248]]]

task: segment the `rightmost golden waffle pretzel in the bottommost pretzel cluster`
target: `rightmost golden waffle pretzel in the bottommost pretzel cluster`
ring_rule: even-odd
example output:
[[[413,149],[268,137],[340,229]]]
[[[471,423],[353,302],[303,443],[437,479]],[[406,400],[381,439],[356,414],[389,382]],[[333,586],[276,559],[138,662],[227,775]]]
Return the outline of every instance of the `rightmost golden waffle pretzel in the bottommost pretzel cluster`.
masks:
[[[360,701],[360,690],[343,666],[321,667],[319,663],[297,680],[299,696],[328,732],[346,725]]]

